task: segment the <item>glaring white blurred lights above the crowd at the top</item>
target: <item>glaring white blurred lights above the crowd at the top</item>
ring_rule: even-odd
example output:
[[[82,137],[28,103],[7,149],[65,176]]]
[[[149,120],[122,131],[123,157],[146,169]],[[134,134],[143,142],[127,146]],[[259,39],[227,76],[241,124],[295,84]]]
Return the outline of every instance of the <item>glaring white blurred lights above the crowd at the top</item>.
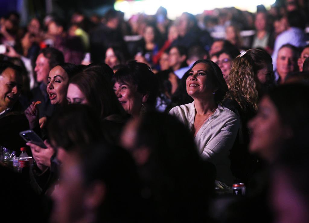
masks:
[[[125,13],[125,19],[132,15],[145,13],[154,15],[160,6],[167,9],[167,16],[175,19],[183,12],[189,12],[194,15],[201,14],[205,10],[214,10],[215,8],[232,7],[240,10],[256,11],[257,5],[264,5],[269,8],[276,0],[139,0],[125,1],[118,0],[114,8]]]

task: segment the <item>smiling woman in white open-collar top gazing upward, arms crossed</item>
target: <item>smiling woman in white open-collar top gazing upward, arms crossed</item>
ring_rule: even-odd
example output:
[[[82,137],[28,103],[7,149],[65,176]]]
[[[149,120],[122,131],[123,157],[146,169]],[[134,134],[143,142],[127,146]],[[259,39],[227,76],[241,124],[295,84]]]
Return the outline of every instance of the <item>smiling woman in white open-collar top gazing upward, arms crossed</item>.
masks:
[[[210,60],[198,60],[190,69],[186,88],[194,101],[172,108],[170,114],[191,129],[201,156],[216,166],[217,180],[232,184],[229,155],[239,117],[221,105],[228,91],[222,71]]]

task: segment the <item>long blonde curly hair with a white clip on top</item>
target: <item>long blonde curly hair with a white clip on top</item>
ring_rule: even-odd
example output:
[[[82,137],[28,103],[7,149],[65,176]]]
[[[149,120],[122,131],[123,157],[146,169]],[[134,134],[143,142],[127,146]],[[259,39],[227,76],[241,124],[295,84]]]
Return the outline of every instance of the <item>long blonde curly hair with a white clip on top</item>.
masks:
[[[257,72],[272,66],[271,56],[263,50],[250,49],[238,55],[232,63],[230,88],[226,98],[234,99],[242,111],[256,111],[259,99]]]

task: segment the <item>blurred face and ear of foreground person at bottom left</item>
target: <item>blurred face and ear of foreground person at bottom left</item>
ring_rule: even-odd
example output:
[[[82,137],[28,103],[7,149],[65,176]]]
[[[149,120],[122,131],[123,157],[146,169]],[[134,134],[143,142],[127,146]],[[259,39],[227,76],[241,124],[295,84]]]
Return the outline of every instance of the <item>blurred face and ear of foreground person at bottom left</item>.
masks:
[[[106,197],[101,180],[86,183],[80,155],[58,148],[61,161],[59,185],[52,194],[52,222],[96,222],[98,209]]]

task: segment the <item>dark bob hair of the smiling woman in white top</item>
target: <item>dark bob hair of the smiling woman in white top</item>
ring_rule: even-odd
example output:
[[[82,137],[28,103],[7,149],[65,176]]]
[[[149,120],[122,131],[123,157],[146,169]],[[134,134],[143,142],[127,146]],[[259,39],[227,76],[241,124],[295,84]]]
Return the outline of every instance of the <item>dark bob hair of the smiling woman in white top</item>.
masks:
[[[223,78],[223,74],[222,74],[220,67],[211,60],[197,60],[195,63],[193,63],[192,67],[190,68],[190,71],[198,63],[205,63],[209,65],[209,69],[213,77],[214,85],[215,87],[218,87],[218,90],[215,92],[214,99],[216,102],[221,102],[224,99],[226,92],[229,89]]]

